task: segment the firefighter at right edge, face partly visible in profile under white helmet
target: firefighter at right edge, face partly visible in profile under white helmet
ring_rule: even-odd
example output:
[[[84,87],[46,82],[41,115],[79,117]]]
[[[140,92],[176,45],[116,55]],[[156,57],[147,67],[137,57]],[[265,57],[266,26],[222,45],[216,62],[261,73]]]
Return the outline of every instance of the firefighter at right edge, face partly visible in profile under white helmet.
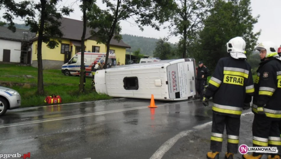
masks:
[[[252,112],[254,147],[277,147],[278,153],[268,159],[280,159],[281,138],[278,123],[281,119],[281,61],[278,46],[273,42],[262,42],[255,47],[260,52],[261,63],[255,80]],[[244,159],[260,159],[261,153],[243,155]]]

